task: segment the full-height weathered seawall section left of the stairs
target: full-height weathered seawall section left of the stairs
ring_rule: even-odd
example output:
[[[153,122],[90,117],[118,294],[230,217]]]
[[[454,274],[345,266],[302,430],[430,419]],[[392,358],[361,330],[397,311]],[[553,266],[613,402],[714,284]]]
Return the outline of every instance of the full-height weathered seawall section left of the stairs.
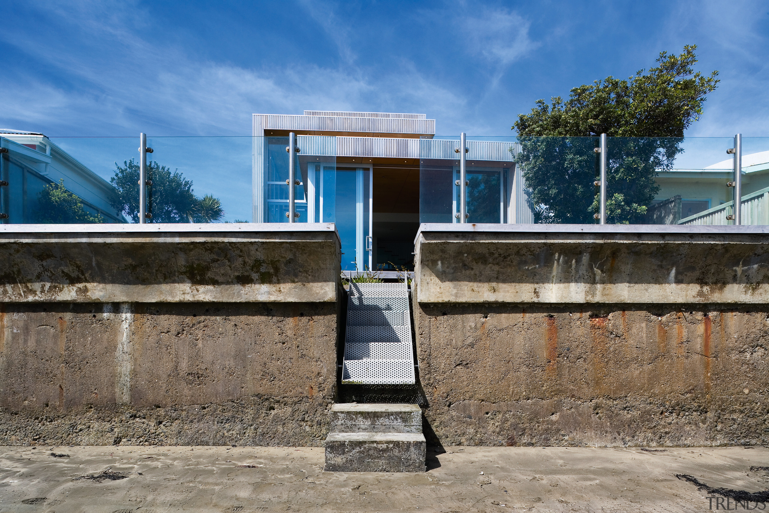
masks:
[[[15,301],[0,304],[0,445],[321,445],[335,393],[338,237],[327,225],[244,226],[26,242],[5,233],[15,267],[0,285]],[[185,268],[199,272],[185,279]],[[102,301],[118,296],[112,285],[132,301]],[[135,301],[142,290],[148,301]]]

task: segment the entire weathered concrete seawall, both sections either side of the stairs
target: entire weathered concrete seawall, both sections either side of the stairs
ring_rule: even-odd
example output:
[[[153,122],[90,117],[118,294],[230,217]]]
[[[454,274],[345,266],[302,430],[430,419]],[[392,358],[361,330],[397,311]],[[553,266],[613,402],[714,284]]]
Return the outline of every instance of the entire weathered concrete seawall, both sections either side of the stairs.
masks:
[[[422,225],[428,440],[769,443],[764,227]],[[2,225],[0,444],[322,445],[334,225]]]

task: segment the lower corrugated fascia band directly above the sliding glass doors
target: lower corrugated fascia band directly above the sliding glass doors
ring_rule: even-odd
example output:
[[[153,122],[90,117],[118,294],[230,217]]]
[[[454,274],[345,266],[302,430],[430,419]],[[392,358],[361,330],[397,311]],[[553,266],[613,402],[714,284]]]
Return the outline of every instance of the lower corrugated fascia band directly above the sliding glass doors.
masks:
[[[327,137],[298,135],[302,155],[337,155],[339,157],[392,157],[457,159],[454,148],[459,141],[379,137]],[[468,159],[511,162],[518,143],[468,141]]]

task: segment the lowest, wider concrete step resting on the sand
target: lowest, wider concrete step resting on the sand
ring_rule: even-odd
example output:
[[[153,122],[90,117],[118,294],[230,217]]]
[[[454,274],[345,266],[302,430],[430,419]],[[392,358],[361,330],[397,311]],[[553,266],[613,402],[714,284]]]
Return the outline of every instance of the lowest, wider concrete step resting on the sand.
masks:
[[[424,472],[421,433],[329,433],[326,464],[331,472]]]

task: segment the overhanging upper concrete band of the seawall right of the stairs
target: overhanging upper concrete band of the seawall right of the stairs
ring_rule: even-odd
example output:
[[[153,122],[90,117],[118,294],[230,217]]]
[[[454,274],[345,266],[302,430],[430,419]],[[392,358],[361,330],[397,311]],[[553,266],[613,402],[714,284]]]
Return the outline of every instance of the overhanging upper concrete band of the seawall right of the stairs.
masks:
[[[441,226],[458,225],[422,225],[418,235],[415,274],[425,303],[741,305],[769,298],[769,227]],[[485,231],[490,226],[499,228]]]

